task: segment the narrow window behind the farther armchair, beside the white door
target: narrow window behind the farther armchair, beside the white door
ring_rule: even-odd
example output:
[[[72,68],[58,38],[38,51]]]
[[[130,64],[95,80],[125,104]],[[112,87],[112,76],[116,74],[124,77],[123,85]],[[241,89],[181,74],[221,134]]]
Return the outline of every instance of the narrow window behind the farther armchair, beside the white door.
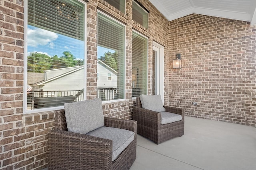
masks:
[[[148,39],[132,32],[132,97],[148,94]]]

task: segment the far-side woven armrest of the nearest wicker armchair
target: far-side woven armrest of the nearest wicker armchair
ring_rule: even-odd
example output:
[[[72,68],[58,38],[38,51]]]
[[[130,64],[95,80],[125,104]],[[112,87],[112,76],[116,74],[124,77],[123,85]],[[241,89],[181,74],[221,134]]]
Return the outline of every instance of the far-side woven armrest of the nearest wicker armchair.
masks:
[[[126,129],[137,133],[137,121],[104,117],[104,126]]]

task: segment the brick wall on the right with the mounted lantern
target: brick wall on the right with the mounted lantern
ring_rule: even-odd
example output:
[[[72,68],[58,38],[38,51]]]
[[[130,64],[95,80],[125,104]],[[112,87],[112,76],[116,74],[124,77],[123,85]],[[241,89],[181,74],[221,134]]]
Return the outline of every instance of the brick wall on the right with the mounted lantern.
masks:
[[[193,117],[256,125],[255,26],[192,14],[170,22],[169,46],[170,106]],[[176,53],[181,69],[172,68]]]

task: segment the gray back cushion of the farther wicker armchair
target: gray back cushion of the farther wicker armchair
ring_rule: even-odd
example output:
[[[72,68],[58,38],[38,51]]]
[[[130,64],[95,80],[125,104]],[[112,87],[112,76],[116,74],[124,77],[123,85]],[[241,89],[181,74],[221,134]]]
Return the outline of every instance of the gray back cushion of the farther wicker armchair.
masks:
[[[144,109],[149,109],[157,112],[165,111],[160,94],[154,96],[147,96],[142,94],[140,95],[140,102],[142,108]]]

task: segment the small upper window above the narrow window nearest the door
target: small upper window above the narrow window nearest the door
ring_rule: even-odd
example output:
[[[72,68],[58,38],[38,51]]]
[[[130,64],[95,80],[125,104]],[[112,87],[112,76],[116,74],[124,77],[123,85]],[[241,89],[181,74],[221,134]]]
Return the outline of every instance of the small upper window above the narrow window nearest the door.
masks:
[[[148,28],[148,12],[135,1],[132,1],[132,20]]]

